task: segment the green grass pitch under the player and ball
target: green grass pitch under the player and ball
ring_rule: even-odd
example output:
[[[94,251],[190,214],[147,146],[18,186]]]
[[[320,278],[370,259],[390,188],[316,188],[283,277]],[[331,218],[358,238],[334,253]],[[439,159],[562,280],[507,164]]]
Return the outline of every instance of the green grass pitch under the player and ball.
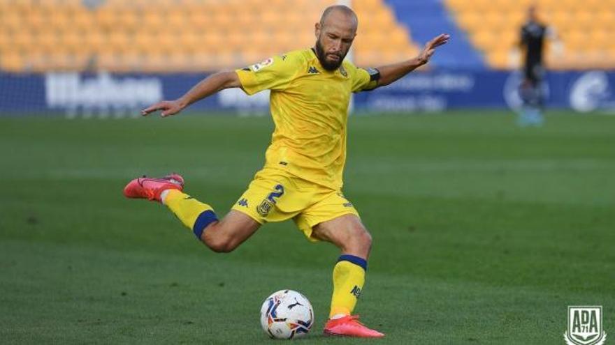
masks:
[[[0,342],[271,344],[278,289],[314,305],[300,344],[564,344],[568,305],[615,337],[615,116],[353,116],[345,194],[374,238],[356,309],[382,340],[321,335],[338,251],[292,222],[231,254],[122,197],[178,171],[220,215],[261,167],[270,118],[0,118]],[[608,342],[608,340],[607,340]]]

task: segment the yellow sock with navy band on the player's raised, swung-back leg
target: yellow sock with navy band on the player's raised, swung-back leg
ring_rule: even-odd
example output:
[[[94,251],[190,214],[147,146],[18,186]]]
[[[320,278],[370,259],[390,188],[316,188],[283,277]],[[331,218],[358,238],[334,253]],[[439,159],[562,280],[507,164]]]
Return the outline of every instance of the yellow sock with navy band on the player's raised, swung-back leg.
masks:
[[[192,229],[194,236],[201,240],[203,230],[212,222],[217,222],[218,217],[208,204],[193,199],[188,194],[179,190],[166,190],[163,198],[165,204],[186,227]],[[163,192],[164,193],[164,192]]]

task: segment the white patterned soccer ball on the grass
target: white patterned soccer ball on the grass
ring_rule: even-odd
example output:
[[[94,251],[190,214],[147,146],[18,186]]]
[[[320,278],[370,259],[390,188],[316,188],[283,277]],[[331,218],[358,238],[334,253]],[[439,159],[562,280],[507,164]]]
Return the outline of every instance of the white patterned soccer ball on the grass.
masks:
[[[261,307],[261,326],[269,337],[292,339],[307,334],[314,323],[310,301],[293,290],[280,290],[269,296]]]

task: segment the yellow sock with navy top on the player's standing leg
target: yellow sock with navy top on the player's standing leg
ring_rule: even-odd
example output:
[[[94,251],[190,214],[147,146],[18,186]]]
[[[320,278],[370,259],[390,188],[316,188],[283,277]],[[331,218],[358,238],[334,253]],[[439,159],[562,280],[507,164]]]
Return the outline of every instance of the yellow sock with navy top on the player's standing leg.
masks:
[[[329,318],[352,313],[357,298],[361,296],[367,267],[367,261],[359,256],[340,256],[333,268],[333,297]]]

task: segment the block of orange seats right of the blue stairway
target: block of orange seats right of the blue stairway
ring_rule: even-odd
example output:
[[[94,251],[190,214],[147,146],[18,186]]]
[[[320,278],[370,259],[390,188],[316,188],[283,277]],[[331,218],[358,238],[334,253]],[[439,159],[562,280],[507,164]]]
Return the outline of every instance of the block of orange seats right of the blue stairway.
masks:
[[[491,68],[519,65],[519,28],[531,4],[537,5],[542,20],[563,45],[547,49],[549,68],[615,68],[615,42],[608,37],[615,23],[615,0],[446,0],[446,4]]]

